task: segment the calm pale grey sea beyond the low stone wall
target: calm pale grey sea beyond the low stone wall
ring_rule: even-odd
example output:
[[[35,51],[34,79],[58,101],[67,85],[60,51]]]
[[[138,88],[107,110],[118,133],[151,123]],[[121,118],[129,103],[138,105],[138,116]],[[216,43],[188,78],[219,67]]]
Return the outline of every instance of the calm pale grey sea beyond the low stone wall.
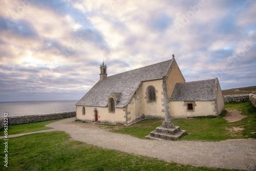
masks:
[[[75,104],[79,100],[60,101],[8,101],[0,102],[0,117],[8,112],[8,116],[45,115],[76,111]]]

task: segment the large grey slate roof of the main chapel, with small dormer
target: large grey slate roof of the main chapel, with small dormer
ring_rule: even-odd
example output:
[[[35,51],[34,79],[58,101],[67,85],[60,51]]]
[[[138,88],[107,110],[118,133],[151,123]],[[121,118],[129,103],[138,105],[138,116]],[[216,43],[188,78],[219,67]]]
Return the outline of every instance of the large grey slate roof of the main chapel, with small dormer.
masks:
[[[105,107],[108,105],[111,93],[116,93],[119,102],[116,103],[115,107],[123,108],[130,101],[142,81],[162,79],[173,60],[166,60],[106,77],[102,81],[98,81],[76,105]]]

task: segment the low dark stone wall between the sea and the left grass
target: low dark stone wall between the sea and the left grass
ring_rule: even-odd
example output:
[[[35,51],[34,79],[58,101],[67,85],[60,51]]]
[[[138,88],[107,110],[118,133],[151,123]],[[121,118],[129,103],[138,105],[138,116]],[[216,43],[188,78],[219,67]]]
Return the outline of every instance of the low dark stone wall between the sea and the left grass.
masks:
[[[17,125],[23,123],[41,122],[62,118],[75,117],[76,112],[65,112],[57,114],[46,114],[46,115],[27,115],[27,116],[10,116],[8,117],[8,125]]]

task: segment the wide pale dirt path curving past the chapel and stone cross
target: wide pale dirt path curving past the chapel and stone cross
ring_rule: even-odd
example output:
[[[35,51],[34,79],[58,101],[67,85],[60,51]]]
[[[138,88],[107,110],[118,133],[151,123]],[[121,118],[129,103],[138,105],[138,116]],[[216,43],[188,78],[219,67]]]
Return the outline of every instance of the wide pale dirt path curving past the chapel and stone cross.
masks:
[[[48,124],[65,131],[78,141],[181,164],[197,166],[255,169],[256,140],[236,139],[219,142],[167,141],[138,139],[100,129],[93,123],[65,119]]]

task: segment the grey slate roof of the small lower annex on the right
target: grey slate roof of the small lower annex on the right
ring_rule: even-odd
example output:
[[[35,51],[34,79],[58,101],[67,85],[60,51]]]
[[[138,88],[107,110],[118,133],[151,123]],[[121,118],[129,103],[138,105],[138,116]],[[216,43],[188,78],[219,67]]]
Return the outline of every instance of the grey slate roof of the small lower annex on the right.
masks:
[[[218,78],[177,83],[170,101],[212,101],[216,99]]]

